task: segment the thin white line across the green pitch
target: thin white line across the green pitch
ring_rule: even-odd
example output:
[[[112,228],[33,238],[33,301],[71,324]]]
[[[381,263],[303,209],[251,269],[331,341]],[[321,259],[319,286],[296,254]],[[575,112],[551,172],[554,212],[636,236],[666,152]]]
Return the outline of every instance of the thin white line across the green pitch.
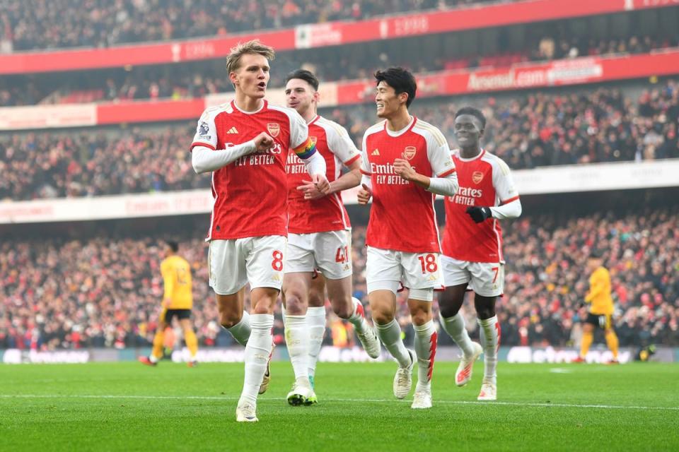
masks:
[[[216,396],[112,396],[112,395],[71,395],[59,396],[54,394],[0,394],[0,398],[103,398],[103,399],[151,399],[151,400],[238,400],[238,397]],[[261,400],[271,401],[272,398]],[[384,398],[327,398],[327,402],[351,402],[351,403],[404,403],[393,399]],[[666,410],[679,411],[679,407],[645,407],[638,405],[579,405],[576,403],[531,403],[531,402],[478,402],[474,400],[435,400],[434,404],[443,403],[449,405],[509,405],[517,407],[540,407],[540,408],[600,408],[603,410]]]

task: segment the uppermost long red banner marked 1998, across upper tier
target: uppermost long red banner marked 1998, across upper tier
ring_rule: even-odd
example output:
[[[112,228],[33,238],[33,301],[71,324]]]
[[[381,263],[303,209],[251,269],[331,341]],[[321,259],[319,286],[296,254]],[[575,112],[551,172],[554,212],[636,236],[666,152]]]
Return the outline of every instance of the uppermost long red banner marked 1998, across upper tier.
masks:
[[[253,39],[260,39],[280,52],[593,16],[642,8],[661,8],[677,4],[679,0],[526,0],[506,4],[471,5],[426,13],[405,13],[388,18],[299,25],[294,29],[262,30],[207,39],[124,44],[108,49],[0,54],[0,73],[77,71],[127,65],[170,64],[223,58],[238,42]]]

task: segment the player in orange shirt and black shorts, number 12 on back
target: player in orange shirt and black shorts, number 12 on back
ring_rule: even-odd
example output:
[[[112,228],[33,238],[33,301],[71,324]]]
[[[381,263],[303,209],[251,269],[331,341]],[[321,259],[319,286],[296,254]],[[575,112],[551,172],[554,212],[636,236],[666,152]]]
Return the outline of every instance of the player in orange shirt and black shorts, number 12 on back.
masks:
[[[196,353],[198,352],[198,340],[196,333],[191,326],[191,309],[193,307],[191,266],[189,263],[178,256],[179,244],[177,242],[166,242],[165,258],[161,262],[161,274],[163,275],[163,311],[158,321],[156,335],[153,336],[153,350],[151,355],[139,357],[139,362],[148,366],[158,364],[158,359],[163,357],[163,339],[165,330],[172,326],[172,319],[178,319],[184,340],[191,353],[188,362],[189,367],[196,365]]]

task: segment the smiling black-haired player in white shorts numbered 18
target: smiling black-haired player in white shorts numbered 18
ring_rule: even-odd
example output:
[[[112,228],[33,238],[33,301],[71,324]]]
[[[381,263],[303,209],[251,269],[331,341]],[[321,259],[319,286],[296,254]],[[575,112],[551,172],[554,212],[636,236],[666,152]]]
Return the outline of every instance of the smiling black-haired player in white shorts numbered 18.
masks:
[[[405,69],[378,71],[377,116],[385,119],[363,138],[359,203],[373,198],[368,220],[366,280],[378,336],[398,362],[394,396],[405,398],[412,386],[417,356],[417,386],[412,408],[431,408],[431,373],[436,330],[431,320],[434,289],[442,287],[436,194],[458,190],[455,164],[439,129],[413,117],[408,107],[417,86]],[[415,352],[407,350],[395,319],[400,283],[410,289],[408,308],[415,330]]]

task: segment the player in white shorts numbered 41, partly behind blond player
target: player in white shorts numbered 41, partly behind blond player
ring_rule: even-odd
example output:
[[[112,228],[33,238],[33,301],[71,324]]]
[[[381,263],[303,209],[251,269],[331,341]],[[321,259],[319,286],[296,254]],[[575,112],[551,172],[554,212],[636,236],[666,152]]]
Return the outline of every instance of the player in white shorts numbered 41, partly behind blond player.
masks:
[[[315,357],[318,357],[325,332],[325,300],[323,304],[308,307],[315,268],[325,278],[333,311],[354,325],[368,355],[378,357],[380,343],[366,322],[363,304],[352,297],[352,228],[342,203],[342,190],[361,182],[361,154],[344,127],[318,116],[318,78],[313,73],[303,69],[290,73],[286,78],[285,95],[288,107],[296,109],[306,120],[309,136],[318,153],[325,158],[326,177],[330,181],[330,191],[321,193],[308,180],[303,162],[294,154],[288,156],[284,321],[296,379],[288,401],[298,405],[309,396],[316,401],[315,394],[309,393],[306,386],[309,382],[313,386]],[[349,172],[341,174],[342,165]]]

